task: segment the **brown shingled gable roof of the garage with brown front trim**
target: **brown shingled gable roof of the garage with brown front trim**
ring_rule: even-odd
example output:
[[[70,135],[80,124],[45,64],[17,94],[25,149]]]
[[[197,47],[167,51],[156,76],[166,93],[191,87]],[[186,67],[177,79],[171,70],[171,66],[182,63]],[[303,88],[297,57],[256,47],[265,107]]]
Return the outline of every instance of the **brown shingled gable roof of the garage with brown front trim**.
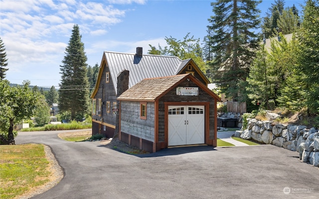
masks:
[[[194,82],[198,87],[208,93],[211,97],[217,101],[221,101],[220,98],[203,85],[199,80],[193,77],[191,74],[181,74],[168,77],[144,79],[137,83],[127,91],[125,91],[117,100],[129,100],[129,101],[155,101],[161,96],[165,95],[175,86],[180,84],[186,79]]]

